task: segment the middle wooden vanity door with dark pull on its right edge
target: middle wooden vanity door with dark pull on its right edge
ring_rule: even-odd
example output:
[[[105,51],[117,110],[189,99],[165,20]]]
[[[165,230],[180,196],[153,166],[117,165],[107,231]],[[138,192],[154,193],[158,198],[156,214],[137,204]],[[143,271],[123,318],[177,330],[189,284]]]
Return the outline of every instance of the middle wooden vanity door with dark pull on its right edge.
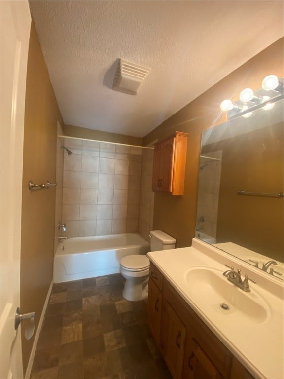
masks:
[[[168,302],[163,311],[162,350],[164,360],[174,379],[182,374],[186,328]]]

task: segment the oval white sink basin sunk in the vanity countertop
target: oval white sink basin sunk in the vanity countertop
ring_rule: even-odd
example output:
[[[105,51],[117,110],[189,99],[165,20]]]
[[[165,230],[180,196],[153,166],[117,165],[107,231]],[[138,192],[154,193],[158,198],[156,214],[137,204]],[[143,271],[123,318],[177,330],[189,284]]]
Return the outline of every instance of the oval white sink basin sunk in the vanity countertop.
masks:
[[[188,296],[209,318],[223,315],[224,322],[259,324],[270,317],[269,306],[254,289],[241,290],[230,283],[222,271],[190,268],[184,273],[184,281]]]

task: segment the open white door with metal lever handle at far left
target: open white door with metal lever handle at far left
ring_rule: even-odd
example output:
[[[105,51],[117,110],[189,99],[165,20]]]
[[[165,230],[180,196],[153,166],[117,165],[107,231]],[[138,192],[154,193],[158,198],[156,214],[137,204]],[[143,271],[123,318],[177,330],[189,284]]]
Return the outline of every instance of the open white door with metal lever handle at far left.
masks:
[[[28,1],[0,1],[0,378],[23,378],[20,248],[23,138],[31,14]]]

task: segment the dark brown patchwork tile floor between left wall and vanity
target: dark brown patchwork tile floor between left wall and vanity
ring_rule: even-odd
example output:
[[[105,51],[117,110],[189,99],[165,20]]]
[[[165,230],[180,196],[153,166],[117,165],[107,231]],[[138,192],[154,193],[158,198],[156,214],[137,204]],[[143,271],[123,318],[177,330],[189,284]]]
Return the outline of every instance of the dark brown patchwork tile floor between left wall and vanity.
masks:
[[[120,274],[54,284],[31,379],[170,379],[146,301],[122,297]]]

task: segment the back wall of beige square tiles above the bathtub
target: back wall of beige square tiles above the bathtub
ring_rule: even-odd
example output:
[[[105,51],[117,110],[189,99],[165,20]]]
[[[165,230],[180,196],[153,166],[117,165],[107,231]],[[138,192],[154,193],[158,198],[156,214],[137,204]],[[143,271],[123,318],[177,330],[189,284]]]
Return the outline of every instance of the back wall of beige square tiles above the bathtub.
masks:
[[[142,150],[148,149],[71,138],[64,144],[72,154],[64,151],[62,235],[138,232]]]

